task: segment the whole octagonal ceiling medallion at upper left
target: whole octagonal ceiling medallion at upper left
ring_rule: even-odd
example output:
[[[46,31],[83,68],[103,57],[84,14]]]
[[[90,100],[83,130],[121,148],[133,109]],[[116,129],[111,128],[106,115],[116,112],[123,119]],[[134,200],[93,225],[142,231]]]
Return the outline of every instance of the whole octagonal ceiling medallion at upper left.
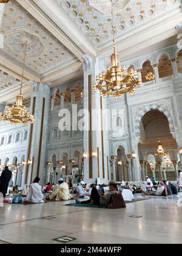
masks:
[[[34,35],[32,32],[23,28],[13,29],[7,32],[5,40],[6,46],[13,52],[13,54],[24,56],[24,42],[28,41],[27,46],[27,58],[35,59],[40,57],[47,51],[47,46],[44,44],[38,35]]]

